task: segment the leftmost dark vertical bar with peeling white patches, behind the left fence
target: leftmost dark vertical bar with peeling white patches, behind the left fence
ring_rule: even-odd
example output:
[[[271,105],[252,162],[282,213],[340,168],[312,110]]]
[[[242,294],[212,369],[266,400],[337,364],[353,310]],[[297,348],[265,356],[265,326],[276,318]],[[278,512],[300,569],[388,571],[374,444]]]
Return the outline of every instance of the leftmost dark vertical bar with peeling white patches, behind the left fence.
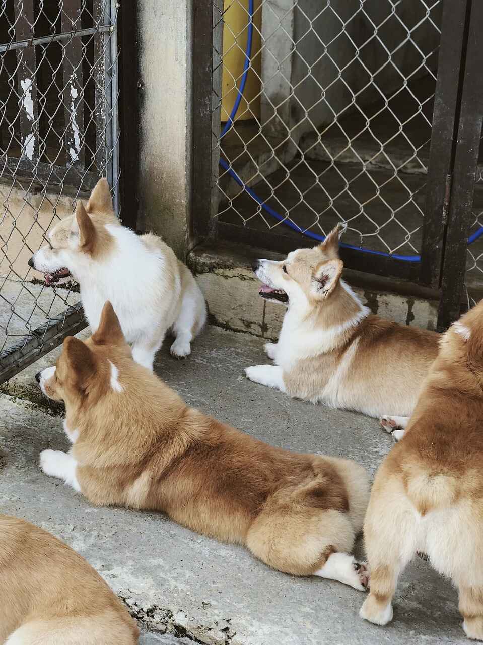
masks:
[[[34,37],[34,0],[14,2],[15,39]],[[20,133],[22,155],[30,161],[39,158],[39,113],[37,81],[35,78],[35,47],[17,51],[17,79],[20,104]]]

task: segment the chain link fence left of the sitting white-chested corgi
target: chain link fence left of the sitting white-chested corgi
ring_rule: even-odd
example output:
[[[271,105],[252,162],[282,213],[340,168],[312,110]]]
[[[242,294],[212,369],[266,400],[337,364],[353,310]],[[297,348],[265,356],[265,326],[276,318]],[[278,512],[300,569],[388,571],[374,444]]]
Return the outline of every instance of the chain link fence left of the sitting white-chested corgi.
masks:
[[[27,262],[100,177],[119,213],[118,8],[0,3],[0,382],[84,326],[76,286]]]

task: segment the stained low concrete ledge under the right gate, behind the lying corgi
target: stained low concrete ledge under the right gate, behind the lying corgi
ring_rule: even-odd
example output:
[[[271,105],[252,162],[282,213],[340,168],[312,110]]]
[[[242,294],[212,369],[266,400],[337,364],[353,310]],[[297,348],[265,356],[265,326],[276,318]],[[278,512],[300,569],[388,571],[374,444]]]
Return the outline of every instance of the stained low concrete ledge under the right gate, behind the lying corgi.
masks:
[[[206,297],[212,324],[275,339],[285,308],[258,296],[260,283],[251,271],[251,261],[257,257],[284,256],[242,245],[202,244],[190,253],[188,264]],[[397,323],[436,328],[439,303],[432,290],[419,288],[419,295],[414,296],[410,286],[400,281],[347,269],[344,278],[373,313]]]

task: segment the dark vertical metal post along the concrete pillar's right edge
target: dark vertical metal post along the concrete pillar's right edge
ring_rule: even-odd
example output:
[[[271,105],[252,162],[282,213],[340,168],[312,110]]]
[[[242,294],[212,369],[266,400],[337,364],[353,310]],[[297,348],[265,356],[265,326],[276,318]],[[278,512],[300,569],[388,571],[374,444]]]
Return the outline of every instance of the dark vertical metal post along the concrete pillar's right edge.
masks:
[[[193,233],[210,233],[212,212],[213,0],[193,3]]]

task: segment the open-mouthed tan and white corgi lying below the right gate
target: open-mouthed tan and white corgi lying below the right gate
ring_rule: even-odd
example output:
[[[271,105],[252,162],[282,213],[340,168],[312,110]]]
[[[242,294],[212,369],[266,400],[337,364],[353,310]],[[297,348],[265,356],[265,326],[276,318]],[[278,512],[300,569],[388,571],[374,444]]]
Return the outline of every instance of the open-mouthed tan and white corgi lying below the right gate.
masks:
[[[255,383],[311,402],[383,417],[404,428],[438,353],[439,334],[371,315],[340,277],[339,226],[324,243],[282,261],[257,260],[262,298],[287,307],[274,365],[245,370]],[[397,416],[395,416],[397,415]]]

